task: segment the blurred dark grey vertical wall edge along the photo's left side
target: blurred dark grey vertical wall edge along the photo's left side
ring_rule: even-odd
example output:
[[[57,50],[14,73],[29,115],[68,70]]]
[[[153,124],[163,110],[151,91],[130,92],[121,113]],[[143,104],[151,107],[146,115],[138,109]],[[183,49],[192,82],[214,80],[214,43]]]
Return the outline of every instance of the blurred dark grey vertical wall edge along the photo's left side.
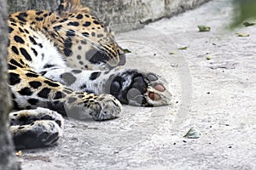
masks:
[[[7,75],[7,6],[5,0],[0,0],[0,169],[16,170],[14,148],[9,133],[9,111],[11,100]]]

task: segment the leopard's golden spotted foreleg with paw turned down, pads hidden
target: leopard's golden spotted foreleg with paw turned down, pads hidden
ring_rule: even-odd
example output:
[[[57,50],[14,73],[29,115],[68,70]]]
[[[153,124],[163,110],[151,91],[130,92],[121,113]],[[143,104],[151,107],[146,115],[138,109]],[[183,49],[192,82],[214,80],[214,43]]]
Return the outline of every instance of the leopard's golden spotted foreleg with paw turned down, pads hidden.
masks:
[[[9,71],[10,89],[16,109],[49,108],[78,119],[88,116],[96,121],[119,116],[119,100],[110,94],[74,91],[60,82],[22,68]]]

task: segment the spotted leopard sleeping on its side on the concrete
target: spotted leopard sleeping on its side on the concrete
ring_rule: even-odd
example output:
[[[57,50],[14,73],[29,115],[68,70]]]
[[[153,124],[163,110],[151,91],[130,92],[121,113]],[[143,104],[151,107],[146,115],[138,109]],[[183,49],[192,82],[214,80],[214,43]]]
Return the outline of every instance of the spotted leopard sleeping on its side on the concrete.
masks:
[[[9,88],[15,112],[10,130],[17,149],[56,144],[62,116],[104,121],[121,103],[168,105],[170,94],[154,73],[122,69],[125,53],[79,0],[52,12],[9,15]]]

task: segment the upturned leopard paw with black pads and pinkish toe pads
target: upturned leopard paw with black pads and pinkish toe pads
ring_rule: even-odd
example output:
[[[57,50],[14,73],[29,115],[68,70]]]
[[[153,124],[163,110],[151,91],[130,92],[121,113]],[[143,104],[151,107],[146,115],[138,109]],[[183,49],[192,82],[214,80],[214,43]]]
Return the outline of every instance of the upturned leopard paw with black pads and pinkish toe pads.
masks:
[[[164,80],[154,73],[127,70],[110,78],[110,94],[124,104],[139,106],[170,105],[172,94]],[[107,89],[108,90],[108,89]]]

